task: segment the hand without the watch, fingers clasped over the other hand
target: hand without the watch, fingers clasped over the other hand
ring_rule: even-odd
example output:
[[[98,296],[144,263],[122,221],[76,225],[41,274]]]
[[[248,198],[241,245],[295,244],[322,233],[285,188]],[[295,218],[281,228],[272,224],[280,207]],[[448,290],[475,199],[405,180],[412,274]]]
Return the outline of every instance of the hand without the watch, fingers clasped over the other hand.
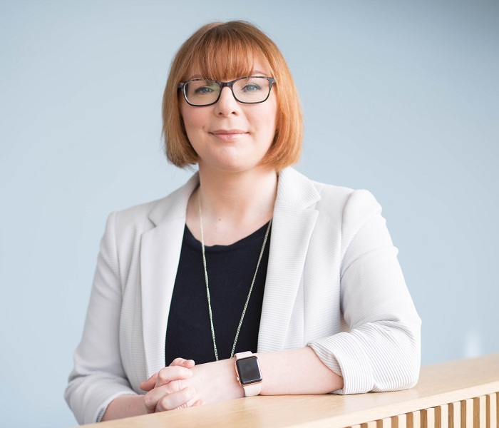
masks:
[[[148,380],[140,384],[140,389],[148,391],[144,396],[144,405],[148,413],[203,404],[202,399],[195,399],[196,390],[186,379],[192,377],[194,361],[175,358],[168,367],[163,367]]]

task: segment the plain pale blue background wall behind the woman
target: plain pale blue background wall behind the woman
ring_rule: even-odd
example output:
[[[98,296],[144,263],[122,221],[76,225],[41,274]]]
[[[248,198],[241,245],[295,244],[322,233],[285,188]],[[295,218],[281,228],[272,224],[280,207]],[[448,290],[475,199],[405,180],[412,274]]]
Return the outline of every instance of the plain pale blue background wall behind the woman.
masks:
[[[423,364],[499,351],[498,1],[0,1],[0,414],[63,401],[108,213],[190,176],[166,163],[170,61],[247,19],[287,58],[297,168],[371,190],[418,312]]]

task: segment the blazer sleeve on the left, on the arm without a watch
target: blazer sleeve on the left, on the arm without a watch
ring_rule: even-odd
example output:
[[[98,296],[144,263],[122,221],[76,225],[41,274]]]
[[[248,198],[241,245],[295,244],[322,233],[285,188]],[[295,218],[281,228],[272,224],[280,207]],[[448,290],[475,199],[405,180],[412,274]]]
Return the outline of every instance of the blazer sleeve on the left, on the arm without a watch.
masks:
[[[115,240],[115,213],[101,240],[90,304],[65,398],[78,423],[99,422],[108,404],[135,394],[120,359],[119,323],[122,288]]]

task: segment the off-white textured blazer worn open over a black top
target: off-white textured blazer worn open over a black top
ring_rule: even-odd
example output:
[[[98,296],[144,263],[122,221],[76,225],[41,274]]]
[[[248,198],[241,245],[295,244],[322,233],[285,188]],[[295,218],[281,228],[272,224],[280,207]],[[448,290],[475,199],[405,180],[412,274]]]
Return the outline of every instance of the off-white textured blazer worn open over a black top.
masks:
[[[198,183],[194,175],[166,198],[108,218],[66,388],[80,423],[96,422],[120,394],[140,394],[138,384],[165,365],[187,200]],[[413,386],[421,320],[396,255],[371,193],[283,170],[258,352],[308,344],[344,378],[341,394]]]

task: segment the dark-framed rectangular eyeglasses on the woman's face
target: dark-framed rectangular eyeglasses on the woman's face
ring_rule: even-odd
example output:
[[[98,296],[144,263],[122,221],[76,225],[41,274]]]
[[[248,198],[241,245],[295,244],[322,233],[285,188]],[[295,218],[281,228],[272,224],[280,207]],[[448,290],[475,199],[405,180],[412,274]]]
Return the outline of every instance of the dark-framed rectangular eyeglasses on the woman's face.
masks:
[[[193,78],[190,81],[180,82],[178,88],[182,90],[185,101],[190,106],[215,104],[225,86],[230,88],[232,95],[240,103],[258,104],[267,101],[274,83],[274,78],[262,76],[241,77],[230,82]]]

